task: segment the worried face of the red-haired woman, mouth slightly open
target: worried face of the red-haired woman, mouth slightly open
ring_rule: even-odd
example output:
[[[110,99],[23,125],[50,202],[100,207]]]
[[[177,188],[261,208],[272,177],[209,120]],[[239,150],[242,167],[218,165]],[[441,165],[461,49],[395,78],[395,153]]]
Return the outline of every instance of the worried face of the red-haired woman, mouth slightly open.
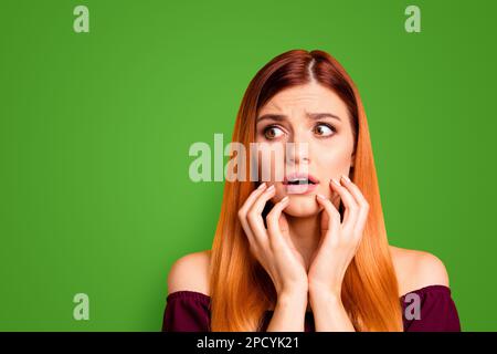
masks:
[[[336,93],[317,83],[277,93],[258,112],[255,142],[266,143],[257,144],[262,181],[275,186],[273,202],[289,197],[287,215],[319,212],[317,194],[338,206],[329,181],[348,176],[355,142],[347,106]]]

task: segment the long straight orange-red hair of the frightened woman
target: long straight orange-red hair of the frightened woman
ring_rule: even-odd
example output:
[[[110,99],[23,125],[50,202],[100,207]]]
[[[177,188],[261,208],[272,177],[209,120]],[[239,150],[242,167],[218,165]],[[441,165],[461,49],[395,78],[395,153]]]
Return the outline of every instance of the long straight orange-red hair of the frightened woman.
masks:
[[[243,96],[232,142],[250,150],[258,110],[282,90],[317,81],[347,105],[355,138],[350,178],[370,205],[361,243],[345,274],[341,299],[357,331],[402,331],[398,280],[381,208],[377,171],[359,92],[345,69],[324,51],[293,50],[274,58],[253,77]],[[233,152],[232,152],[233,156]],[[251,157],[247,157],[247,162]],[[211,249],[211,331],[261,331],[277,295],[271,278],[250,251],[237,211],[256,183],[225,181]],[[342,206],[341,206],[342,207]]]

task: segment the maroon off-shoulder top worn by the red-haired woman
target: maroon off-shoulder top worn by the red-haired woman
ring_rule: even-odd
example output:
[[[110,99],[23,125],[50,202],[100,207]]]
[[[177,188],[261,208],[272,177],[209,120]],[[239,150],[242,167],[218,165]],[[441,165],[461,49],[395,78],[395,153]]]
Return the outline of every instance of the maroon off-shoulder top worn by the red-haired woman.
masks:
[[[421,304],[419,320],[411,306],[415,300],[409,294],[417,294]],[[404,332],[461,332],[457,309],[451,289],[444,285],[429,285],[400,298]],[[409,296],[408,296],[409,295]],[[167,296],[162,331],[165,332],[210,332],[211,298],[195,291],[176,291]],[[408,311],[405,311],[408,309]],[[262,331],[265,332],[273,311],[264,314]],[[315,332],[313,312],[305,314],[305,332]]]

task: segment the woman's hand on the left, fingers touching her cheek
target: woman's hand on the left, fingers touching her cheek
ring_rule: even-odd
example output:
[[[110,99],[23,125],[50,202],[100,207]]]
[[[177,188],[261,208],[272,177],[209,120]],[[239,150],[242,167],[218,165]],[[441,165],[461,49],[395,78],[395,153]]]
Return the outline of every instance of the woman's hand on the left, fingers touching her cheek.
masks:
[[[307,296],[305,262],[292,242],[288,223],[283,214],[283,209],[288,205],[288,197],[274,205],[266,218],[267,229],[264,227],[262,211],[274,195],[275,187],[267,188],[263,183],[245,200],[239,210],[239,219],[248,238],[252,254],[273,280],[278,296]]]

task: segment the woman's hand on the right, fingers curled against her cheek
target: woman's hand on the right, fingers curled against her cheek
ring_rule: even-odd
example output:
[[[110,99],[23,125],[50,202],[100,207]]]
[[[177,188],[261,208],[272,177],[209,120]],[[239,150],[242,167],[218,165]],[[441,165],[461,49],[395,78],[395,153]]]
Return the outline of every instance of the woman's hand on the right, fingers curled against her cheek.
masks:
[[[369,212],[369,204],[359,188],[343,176],[340,183],[330,180],[330,188],[340,196],[346,208],[342,221],[331,200],[316,196],[324,207],[321,238],[308,271],[309,292],[337,299],[340,299],[343,277],[362,239]]]

